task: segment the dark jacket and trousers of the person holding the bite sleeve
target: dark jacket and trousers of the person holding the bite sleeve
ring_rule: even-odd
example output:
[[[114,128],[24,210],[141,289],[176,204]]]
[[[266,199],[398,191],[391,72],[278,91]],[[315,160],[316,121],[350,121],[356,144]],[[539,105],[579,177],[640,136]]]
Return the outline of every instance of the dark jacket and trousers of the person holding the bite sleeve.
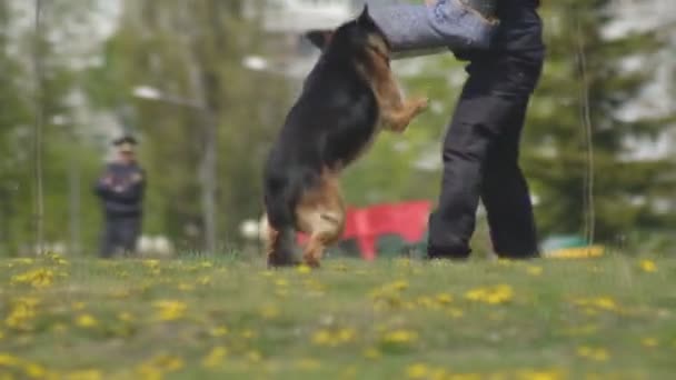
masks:
[[[537,0],[500,0],[488,51],[456,51],[469,78],[444,143],[444,179],[430,216],[430,258],[466,258],[479,199],[503,258],[538,254],[528,186],[518,164],[528,101],[545,57]]]

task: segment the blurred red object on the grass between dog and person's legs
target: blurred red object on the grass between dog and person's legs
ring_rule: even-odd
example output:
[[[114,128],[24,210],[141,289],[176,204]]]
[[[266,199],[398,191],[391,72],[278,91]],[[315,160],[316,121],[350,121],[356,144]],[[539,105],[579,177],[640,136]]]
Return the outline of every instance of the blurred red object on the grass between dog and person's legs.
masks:
[[[348,209],[342,239],[357,239],[361,257],[375,260],[376,240],[381,234],[398,234],[409,243],[422,240],[430,208],[429,201],[412,201]]]

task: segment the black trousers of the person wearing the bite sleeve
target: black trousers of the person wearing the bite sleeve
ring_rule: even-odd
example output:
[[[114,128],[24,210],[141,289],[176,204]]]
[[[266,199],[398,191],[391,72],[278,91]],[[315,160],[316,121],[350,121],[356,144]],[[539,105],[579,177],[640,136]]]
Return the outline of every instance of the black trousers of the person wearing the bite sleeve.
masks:
[[[539,70],[516,74],[539,76]],[[429,221],[430,258],[469,256],[479,199],[496,253],[504,258],[538,254],[533,206],[518,163],[530,91],[495,91],[493,76],[495,71],[470,76],[447,132],[441,194]],[[537,81],[537,77],[530,79]]]

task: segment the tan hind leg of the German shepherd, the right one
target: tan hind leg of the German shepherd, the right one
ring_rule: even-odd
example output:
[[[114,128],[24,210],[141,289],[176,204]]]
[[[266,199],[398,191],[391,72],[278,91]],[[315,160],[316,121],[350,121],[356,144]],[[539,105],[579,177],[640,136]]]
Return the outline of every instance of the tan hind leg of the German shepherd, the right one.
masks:
[[[325,249],[340,240],[345,229],[345,214],[338,180],[327,171],[321,184],[304,197],[297,209],[300,230],[309,234],[302,252],[307,266],[319,267]]]

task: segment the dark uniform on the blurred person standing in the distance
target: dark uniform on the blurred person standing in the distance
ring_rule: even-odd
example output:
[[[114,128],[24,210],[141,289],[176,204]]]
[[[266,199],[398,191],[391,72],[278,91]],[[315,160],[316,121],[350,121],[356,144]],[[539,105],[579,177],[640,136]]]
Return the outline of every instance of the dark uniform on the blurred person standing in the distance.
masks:
[[[118,250],[135,251],[141,231],[145,187],[143,171],[136,162],[109,163],[97,181],[95,191],[103,203],[106,216],[102,258],[110,258]]]

